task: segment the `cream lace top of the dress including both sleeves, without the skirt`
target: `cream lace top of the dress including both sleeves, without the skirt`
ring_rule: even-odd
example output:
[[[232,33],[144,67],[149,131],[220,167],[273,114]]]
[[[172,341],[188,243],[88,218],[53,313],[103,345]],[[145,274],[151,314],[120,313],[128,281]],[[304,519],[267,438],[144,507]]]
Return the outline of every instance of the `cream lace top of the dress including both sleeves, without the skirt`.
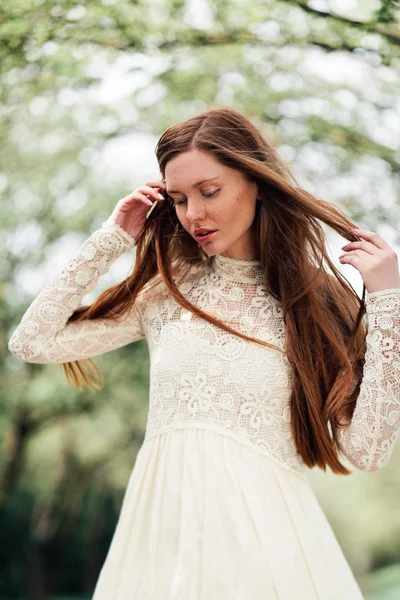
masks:
[[[291,370],[280,352],[229,334],[177,305],[162,285],[145,288],[118,320],[67,324],[99,277],[135,240],[111,218],[47,284],[14,331],[10,351],[26,362],[62,363],[103,354],[141,338],[150,352],[145,440],[199,427],[231,437],[304,474],[290,428]],[[216,255],[194,267],[180,291],[235,329],[281,349],[281,303],[266,293],[258,261]],[[158,291],[157,291],[158,289]],[[367,295],[367,351],[343,454],[359,469],[390,458],[400,429],[400,289]]]

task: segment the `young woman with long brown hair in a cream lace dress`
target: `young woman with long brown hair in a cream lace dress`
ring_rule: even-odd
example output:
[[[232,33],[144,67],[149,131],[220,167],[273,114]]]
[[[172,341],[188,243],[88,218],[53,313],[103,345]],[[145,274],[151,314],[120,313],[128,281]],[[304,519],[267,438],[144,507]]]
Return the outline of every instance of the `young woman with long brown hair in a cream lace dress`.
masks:
[[[301,189],[231,108],[169,127],[156,154],[162,180],[117,203],[9,343],[27,362],[63,363],[81,389],[101,377],[84,359],[148,342],[146,435],[94,599],[359,600],[307,471],[390,458],[396,253]],[[363,299],[320,221],[351,241],[340,261]],[[80,306],[134,246],[132,274]]]

